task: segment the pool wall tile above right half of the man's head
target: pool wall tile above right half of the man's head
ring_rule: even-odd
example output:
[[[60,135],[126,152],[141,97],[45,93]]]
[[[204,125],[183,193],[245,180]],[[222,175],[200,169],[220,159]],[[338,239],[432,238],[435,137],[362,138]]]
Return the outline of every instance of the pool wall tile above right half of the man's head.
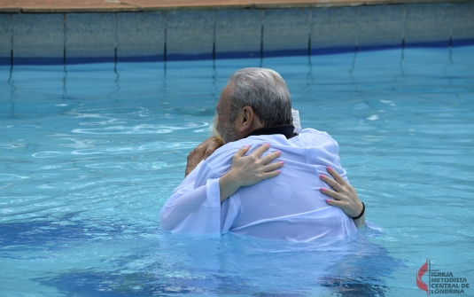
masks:
[[[309,18],[307,9],[266,10],[263,21],[263,57],[308,52]]]

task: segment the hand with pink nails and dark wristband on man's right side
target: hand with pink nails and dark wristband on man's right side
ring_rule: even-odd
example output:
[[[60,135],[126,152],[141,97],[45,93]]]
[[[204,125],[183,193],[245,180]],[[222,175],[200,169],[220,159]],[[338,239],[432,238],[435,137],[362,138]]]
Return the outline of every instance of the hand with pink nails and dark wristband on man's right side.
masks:
[[[327,170],[334,179],[324,175],[321,175],[320,178],[322,181],[329,184],[335,191],[321,188],[323,194],[333,198],[326,199],[326,203],[341,208],[346,215],[353,218],[355,227],[362,227],[365,225],[365,207],[362,205],[359,197],[357,197],[354,187],[339,176],[336,170],[330,167],[328,167]]]

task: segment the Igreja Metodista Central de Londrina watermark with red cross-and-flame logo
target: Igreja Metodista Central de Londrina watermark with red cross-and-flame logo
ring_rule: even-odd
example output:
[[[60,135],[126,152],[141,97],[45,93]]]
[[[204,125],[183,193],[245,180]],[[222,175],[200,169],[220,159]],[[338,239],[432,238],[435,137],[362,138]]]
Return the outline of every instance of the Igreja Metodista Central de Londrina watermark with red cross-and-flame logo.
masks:
[[[426,272],[428,272],[428,284],[423,281]],[[466,277],[455,277],[453,272],[441,272],[431,269],[430,259],[426,259],[426,262],[416,273],[416,286],[426,292],[426,296],[431,294],[463,294],[470,289]]]

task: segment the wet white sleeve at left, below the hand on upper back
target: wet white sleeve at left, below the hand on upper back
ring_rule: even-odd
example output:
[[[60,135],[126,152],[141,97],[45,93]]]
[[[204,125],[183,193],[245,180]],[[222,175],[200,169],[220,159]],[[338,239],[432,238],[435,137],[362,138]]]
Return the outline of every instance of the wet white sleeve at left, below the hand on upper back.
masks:
[[[209,178],[206,184],[196,186],[194,180],[202,179],[199,175],[203,172],[206,170],[196,168],[173,191],[159,212],[162,230],[207,235],[229,231],[237,216],[236,201],[230,197],[221,204],[220,178]]]

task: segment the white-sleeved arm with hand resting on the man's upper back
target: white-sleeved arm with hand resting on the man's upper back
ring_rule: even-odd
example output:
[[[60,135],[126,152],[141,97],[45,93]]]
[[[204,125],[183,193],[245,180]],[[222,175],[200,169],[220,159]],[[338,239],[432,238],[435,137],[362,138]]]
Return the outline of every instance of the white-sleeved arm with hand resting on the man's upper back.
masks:
[[[162,230],[182,233],[220,233],[221,203],[240,187],[257,184],[261,180],[277,176],[283,162],[270,163],[280,156],[271,152],[260,158],[269,145],[261,145],[248,156],[250,146],[239,149],[232,158],[229,171],[215,179],[206,179],[206,184],[197,188],[196,170],[190,172],[183,183],[173,192],[159,213]],[[204,164],[203,166],[209,166]]]

